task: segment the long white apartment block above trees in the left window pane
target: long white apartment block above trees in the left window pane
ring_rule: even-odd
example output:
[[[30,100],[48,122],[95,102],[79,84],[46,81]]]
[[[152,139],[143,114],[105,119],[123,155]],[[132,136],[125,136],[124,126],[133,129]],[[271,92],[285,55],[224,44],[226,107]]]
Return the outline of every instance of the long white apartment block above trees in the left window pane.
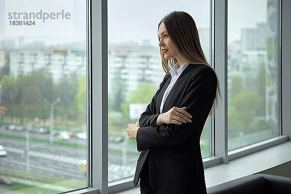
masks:
[[[86,52],[77,49],[12,50],[9,65],[10,76],[13,78],[45,68],[53,81],[58,82],[72,72],[76,72],[78,76],[86,74]]]

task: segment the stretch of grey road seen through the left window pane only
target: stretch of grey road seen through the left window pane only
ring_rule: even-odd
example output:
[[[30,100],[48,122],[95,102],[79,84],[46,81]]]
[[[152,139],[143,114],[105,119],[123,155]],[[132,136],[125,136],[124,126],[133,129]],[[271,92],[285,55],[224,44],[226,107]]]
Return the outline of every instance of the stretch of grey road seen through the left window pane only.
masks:
[[[25,151],[19,147],[21,143],[17,145],[18,147],[11,147],[11,144],[6,146],[2,139],[0,139],[0,142],[7,151],[7,156],[0,158],[1,167],[5,166],[7,169],[26,171],[26,154]],[[41,152],[30,149],[29,156],[30,172],[32,173],[49,175],[57,178],[80,178],[86,180],[85,174],[81,171],[82,158],[73,158],[44,152],[43,149]]]

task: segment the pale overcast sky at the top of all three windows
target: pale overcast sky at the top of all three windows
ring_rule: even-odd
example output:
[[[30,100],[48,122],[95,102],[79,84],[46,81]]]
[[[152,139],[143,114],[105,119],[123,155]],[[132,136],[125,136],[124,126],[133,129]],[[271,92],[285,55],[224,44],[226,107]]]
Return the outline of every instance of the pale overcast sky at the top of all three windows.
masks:
[[[266,1],[228,1],[228,41],[239,39],[242,27],[256,27],[258,22],[266,22]],[[23,7],[23,12],[27,12],[25,5],[29,5],[29,0],[21,2],[15,6]],[[25,43],[41,40],[46,44],[59,44],[85,40],[85,0],[74,0],[73,7],[73,36],[25,36]],[[149,39],[152,45],[157,45],[157,25],[164,15],[174,10],[189,13],[198,28],[210,27],[209,0],[108,0],[108,40],[112,43],[135,41],[141,44],[143,39]],[[4,18],[5,0],[0,0],[0,40],[18,39],[17,36],[5,36]]]

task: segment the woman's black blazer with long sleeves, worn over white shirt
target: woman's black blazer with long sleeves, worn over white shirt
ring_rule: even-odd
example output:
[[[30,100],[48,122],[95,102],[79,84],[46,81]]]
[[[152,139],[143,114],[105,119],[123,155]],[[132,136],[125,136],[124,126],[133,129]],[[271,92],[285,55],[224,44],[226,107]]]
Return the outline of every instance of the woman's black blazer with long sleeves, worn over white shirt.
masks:
[[[166,75],[139,119],[134,186],[146,156],[149,155],[150,180],[157,194],[206,194],[200,136],[216,95],[215,72],[203,64],[189,64],[181,73],[164,103],[162,113],[172,107],[187,107],[192,122],[155,126],[162,96],[171,81]]]

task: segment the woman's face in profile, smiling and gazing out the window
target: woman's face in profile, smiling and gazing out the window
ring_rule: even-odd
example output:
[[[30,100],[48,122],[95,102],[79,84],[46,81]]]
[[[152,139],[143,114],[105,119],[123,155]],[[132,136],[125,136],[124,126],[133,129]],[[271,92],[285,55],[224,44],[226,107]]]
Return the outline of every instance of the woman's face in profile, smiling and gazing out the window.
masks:
[[[169,33],[167,32],[167,29],[163,22],[161,23],[159,27],[158,36],[160,40],[159,46],[162,49],[164,58],[165,59],[177,58],[178,57],[177,49],[173,41],[169,37]]]

